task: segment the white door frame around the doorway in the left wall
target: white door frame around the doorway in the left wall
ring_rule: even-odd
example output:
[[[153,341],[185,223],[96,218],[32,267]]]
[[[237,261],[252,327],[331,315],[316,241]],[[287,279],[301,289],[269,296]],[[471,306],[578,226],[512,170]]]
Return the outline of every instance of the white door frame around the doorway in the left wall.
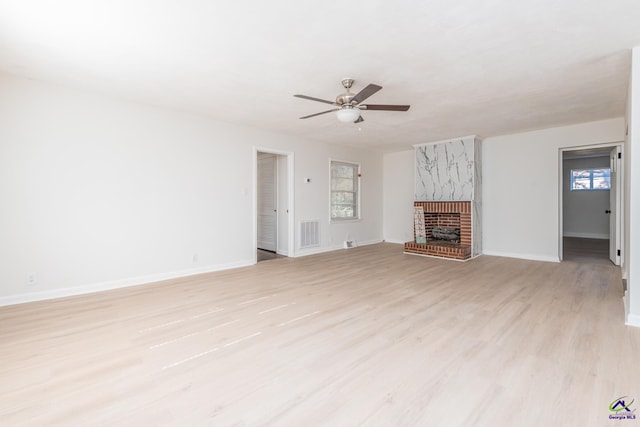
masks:
[[[289,257],[295,256],[295,227],[294,227],[294,153],[293,151],[276,150],[268,147],[253,147],[253,263],[258,263],[258,153],[274,154],[287,158],[287,252]],[[276,251],[277,251],[276,244]]]

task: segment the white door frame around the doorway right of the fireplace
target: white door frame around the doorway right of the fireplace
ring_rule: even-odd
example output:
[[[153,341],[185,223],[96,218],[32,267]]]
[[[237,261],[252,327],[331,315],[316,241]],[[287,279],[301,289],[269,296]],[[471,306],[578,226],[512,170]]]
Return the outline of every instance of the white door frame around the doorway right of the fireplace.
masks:
[[[564,189],[564,152],[565,151],[580,151],[580,150],[588,150],[591,148],[614,148],[620,147],[620,153],[624,156],[624,141],[615,141],[615,142],[606,142],[601,144],[589,144],[589,145],[575,145],[571,147],[560,147],[558,149],[558,259],[562,261],[564,245],[562,239],[564,238],[564,221],[563,221],[563,189]],[[616,188],[616,198],[618,200],[618,209],[616,212],[616,222],[619,224],[618,229],[620,230],[620,235],[618,237],[618,246],[620,247],[620,263],[618,265],[622,265],[624,262],[624,162],[619,163],[618,168],[619,175],[619,186]],[[611,237],[611,236],[609,236]]]

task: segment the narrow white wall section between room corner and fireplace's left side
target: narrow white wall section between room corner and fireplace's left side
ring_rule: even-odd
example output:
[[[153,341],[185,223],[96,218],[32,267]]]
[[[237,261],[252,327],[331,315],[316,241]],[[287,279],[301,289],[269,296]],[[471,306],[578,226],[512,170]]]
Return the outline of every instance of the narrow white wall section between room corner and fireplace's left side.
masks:
[[[388,153],[383,157],[384,240],[413,240],[414,150]]]

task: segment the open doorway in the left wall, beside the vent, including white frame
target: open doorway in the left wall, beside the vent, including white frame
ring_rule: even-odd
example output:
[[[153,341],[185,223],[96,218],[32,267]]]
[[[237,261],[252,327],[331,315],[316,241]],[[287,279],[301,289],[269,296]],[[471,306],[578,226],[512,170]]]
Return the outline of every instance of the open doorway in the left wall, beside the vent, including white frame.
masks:
[[[290,256],[292,226],[293,154],[255,151],[255,249],[256,262]]]

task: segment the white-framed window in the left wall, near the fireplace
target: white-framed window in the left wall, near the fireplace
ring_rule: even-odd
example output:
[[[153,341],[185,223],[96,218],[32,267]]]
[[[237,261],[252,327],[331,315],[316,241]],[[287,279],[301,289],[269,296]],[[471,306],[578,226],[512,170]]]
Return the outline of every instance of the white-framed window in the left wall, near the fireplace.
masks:
[[[331,221],[360,218],[360,165],[331,160]]]

